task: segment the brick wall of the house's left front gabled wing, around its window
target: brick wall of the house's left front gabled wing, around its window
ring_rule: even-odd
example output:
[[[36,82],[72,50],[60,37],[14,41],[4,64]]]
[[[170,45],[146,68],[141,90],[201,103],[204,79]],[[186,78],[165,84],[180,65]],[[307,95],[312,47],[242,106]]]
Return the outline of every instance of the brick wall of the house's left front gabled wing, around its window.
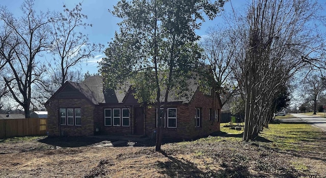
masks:
[[[80,108],[81,125],[67,126],[59,123],[60,108]],[[49,136],[90,136],[94,135],[95,106],[86,99],[52,99],[46,109],[48,111],[47,132]]]

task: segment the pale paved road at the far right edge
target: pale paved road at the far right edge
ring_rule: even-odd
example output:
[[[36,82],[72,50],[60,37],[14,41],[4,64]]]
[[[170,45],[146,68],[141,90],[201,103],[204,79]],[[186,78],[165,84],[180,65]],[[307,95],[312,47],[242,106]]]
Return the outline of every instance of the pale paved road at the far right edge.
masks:
[[[313,115],[294,114],[294,113],[291,113],[291,114],[294,117],[298,118],[298,119],[291,118],[291,120],[293,120],[293,122],[300,122],[300,121],[306,122],[306,123],[312,124],[316,127],[323,129],[324,131],[326,131],[326,118],[317,117],[317,116],[313,116]]]

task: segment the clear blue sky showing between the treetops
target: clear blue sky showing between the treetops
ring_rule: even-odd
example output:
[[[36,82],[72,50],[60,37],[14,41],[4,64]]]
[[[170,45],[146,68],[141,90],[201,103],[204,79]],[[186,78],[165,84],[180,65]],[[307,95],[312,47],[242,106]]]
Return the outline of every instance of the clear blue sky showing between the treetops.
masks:
[[[1,6],[7,6],[8,10],[14,14],[14,16],[19,17],[21,15],[20,6],[23,0],[1,0]],[[60,11],[63,10],[63,5],[65,4],[67,8],[71,9],[80,0],[35,0],[36,11]],[[113,6],[118,2],[118,0],[84,0],[82,4],[83,14],[88,16],[87,23],[93,24],[93,27],[87,28],[85,34],[89,35],[89,39],[92,43],[101,43],[107,47],[107,42],[110,42],[114,37],[115,31],[119,29],[117,22],[120,21],[119,18],[112,16],[108,9],[113,9]],[[244,8],[246,4],[244,0],[232,0],[232,6],[239,10]],[[325,6],[324,0],[319,0],[320,4]],[[224,7],[224,13],[231,13],[230,2],[226,3]],[[214,20],[207,19],[203,23],[201,29],[197,31],[197,34],[204,36],[209,27],[215,25],[223,25],[223,19],[221,16],[216,17]],[[51,58],[50,56],[45,56]],[[90,73],[96,73],[98,71],[97,62],[104,57],[104,53],[99,53],[95,58],[89,59],[87,63],[82,65],[83,73],[90,71]]]

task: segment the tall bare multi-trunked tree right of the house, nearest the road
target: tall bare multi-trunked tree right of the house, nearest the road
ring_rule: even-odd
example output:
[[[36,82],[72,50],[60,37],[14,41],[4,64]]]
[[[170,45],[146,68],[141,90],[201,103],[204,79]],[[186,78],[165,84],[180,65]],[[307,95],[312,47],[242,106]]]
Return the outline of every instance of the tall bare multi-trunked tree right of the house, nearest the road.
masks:
[[[234,60],[245,104],[243,140],[255,139],[273,115],[273,101],[294,74],[322,62],[322,40],[311,24],[320,12],[312,1],[253,0],[233,27],[243,47]],[[318,19],[315,19],[318,20]]]

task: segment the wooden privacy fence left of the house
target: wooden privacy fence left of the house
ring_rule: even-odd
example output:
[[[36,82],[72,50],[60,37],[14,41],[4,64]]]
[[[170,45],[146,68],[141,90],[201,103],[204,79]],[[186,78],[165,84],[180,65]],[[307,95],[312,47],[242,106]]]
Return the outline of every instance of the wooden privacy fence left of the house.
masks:
[[[0,138],[45,134],[46,118],[17,118],[0,120]]]

